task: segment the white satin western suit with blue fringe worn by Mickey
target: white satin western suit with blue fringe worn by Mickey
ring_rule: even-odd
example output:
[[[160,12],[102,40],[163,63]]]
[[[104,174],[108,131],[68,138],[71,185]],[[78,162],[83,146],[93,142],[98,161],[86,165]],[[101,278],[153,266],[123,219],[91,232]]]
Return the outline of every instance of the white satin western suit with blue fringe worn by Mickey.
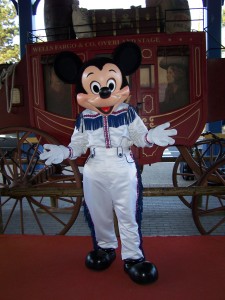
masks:
[[[70,159],[79,157],[90,148],[83,171],[83,189],[96,242],[101,248],[117,248],[114,210],[122,259],[144,256],[136,215],[140,183],[130,146],[150,147],[147,133],[134,108],[122,103],[109,116],[84,110],[69,144]]]

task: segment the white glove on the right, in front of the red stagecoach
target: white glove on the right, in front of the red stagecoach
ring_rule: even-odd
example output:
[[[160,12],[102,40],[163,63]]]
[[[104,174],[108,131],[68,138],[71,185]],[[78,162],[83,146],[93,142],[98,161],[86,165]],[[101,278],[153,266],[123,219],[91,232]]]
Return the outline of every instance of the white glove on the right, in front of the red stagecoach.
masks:
[[[166,147],[168,145],[173,145],[175,140],[170,136],[176,135],[176,129],[165,130],[170,127],[170,123],[161,124],[153,129],[150,129],[147,134],[147,140],[150,143],[156,144],[158,146]]]

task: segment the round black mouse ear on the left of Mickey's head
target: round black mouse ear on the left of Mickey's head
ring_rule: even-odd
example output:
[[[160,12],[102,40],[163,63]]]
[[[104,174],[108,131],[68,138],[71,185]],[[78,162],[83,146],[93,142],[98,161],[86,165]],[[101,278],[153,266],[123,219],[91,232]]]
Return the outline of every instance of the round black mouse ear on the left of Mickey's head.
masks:
[[[60,52],[54,61],[56,75],[65,83],[76,83],[82,61],[73,52]]]

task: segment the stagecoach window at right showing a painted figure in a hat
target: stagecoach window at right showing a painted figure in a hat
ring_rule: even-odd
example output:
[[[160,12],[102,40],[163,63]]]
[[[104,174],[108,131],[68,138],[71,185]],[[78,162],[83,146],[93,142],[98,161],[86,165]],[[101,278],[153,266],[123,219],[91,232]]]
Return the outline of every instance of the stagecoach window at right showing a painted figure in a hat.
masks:
[[[158,49],[159,110],[166,113],[190,103],[189,47]]]

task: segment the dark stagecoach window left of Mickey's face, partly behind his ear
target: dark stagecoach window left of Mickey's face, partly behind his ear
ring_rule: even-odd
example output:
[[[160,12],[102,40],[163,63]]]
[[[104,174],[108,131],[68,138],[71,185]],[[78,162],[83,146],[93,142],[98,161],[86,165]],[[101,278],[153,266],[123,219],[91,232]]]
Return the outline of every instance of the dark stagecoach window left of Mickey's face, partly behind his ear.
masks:
[[[62,82],[55,74],[53,64],[42,60],[45,109],[56,115],[72,117],[71,85]]]

